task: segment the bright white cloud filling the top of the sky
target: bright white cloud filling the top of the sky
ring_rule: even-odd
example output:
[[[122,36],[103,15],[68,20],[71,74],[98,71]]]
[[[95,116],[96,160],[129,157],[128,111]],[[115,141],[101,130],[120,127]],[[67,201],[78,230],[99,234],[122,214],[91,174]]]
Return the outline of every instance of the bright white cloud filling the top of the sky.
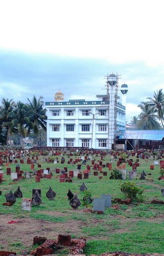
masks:
[[[0,47],[164,66],[163,9],[149,0],[1,1]]]

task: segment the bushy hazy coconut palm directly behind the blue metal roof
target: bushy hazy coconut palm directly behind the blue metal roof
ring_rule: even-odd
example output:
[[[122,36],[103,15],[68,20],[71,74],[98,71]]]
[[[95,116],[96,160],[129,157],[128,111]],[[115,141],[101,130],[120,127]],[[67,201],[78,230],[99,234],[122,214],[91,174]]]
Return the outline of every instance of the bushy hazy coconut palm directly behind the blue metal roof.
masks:
[[[156,121],[158,116],[154,114],[154,110],[151,108],[149,102],[141,102],[138,107],[142,110],[141,114],[139,114],[139,128],[143,130],[160,129],[160,124]]]

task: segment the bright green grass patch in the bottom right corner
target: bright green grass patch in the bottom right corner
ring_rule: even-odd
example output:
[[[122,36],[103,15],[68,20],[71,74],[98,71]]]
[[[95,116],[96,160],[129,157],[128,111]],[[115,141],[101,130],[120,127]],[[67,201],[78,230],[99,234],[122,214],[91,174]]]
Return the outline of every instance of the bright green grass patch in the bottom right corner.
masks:
[[[109,234],[104,240],[88,241],[84,253],[86,255],[114,251],[163,253],[163,234],[164,225],[139,221],[129,232]]]

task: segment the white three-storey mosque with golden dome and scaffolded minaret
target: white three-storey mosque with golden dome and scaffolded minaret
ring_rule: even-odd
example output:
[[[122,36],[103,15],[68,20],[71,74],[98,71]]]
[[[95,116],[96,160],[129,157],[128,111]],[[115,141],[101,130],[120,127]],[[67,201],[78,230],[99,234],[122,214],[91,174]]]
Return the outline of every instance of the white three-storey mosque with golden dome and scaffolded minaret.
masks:
[[[118,76],[107,76],[107,94],[98,100],[64,101],[62,92],[55,102],[45,102],[47,108],[47,146],[113,148],[118,130],[125,130],[127,84],[122,84],[122,103],[117,95]]]

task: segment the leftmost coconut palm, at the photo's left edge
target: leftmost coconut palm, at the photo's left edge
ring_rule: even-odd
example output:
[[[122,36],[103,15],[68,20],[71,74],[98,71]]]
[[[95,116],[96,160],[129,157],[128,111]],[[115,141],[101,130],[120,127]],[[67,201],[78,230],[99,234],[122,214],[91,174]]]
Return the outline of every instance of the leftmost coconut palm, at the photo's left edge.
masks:
[[[12,127],[12,119],[13,119],[13,114],[15,110],[16,104],[15,102],[11,99],[2,99],[2,106],[0,106],[0,122],[3,124],[3,127],[6,129],[6,144],[8,147],[8,140],[9,136],[13,132],[13,127]]]

